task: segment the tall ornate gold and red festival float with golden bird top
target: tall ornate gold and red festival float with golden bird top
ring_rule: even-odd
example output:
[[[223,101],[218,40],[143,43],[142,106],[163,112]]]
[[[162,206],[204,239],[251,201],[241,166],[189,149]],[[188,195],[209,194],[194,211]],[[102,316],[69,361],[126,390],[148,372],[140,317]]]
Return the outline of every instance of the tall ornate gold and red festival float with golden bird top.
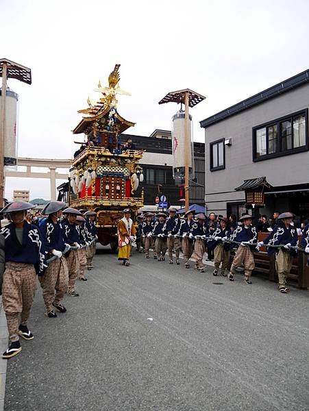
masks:
[[[123,208],[132,210],[135,220],[137,210],[143,207],[141,197],[136,197],[143,170],[138,161],[143,150],[127,149],[121,144],[120,134],[135,123],[123,119],[117,111],[117,95],[129,95],[119,87],[119,66],[108,77],[108,87],[101,82],[95,91],[101,93],[97,103],[88,97],[88,108],[79,110],[82,120],[73,134],[84,134],[84,142],[75,153],[69,177],[69,205],[79,210],[97,212],[99,242],[110,243],[116,250],[116,223],[122,218]]]

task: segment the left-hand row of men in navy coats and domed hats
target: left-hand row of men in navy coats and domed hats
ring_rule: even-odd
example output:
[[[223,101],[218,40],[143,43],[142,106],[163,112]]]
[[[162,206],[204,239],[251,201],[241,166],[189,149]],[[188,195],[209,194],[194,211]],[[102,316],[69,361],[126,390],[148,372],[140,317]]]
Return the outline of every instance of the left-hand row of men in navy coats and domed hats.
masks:
[[[34,207],[25,201],[14,201],[1,210],[11,221],[0,229],[5,239],[2,302],[10,338],[2,358],[11,358],[21,351],[20,336],[25,340],[34,338],[27,321],[36,292],[36,275],[45,315],[55,318],[55,310],[66,312],[62,305],[65,293],[78,297],[75,282],[78,277],[86,281],[84,271],[93,267],[96,213],[88,211],[83,216],[75,208],[66,208],[66,203],[50,201],[42,210],[47,218],[37,227],[25,220],[27,210]],[[65,218],[61,220],[62,210]]]

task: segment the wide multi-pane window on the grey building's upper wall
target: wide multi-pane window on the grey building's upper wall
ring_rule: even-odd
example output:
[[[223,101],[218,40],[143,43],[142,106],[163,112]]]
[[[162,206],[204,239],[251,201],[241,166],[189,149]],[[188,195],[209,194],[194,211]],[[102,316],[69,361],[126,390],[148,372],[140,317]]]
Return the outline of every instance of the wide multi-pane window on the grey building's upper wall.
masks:
[[[299,153],[308,150],[308,112],[298,112],[254,127],[253,160]]]

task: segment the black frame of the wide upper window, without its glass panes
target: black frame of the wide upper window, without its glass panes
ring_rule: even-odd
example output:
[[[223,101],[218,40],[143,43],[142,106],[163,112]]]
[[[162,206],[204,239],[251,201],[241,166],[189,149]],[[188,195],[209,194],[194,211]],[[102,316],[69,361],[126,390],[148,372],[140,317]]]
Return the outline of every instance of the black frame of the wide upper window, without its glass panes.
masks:
[[[295,117],[297,116],[301,116],[301,115],[305,116],[305,145],[301,146],[301,147],[295,147],[294,148],[294,127],[293,127],[293,122]],[[291,138],[292,138],[292,145],[293,148],[292,149],[288,149],[285,151],[282,151],[282,123],[284,121],[291,121],[291,125],[292,125],[292,134],[291,134]],[[276,152],[275,153],[268,153],[269,151],[269,132],[268,132],[268,127],[271,125],[276,125],[277,126],[277,147],[276,147]],[[256,153],[256,148],[257,148],[257,141],[256,141],[256,132],[258,129],[261,128],[266,128],[266,144],[267,144],[267,154],[264,155],[260,155],[259,157],[257,157],[257,153]],[[263,161],[263,160],[269,160],[270,158],[277,158],[277,157],[283,157],[284,155],[291,155],[291,154],[296,154],[296,153],[302,153],[304,151],[308,151],[309,150],[309,137],[308,137],[308,108],[304,109],[304,110],[299,110],[297,112],[293,112],[291,114],[288,114],[286,116],[280,117],[279,119],[275,119],[272,121],[268,121],[267,123],[263,123],[260,125],[256,125],[255,127],[252,127],[252,160],[254,162],[258,162],[258,161]]]

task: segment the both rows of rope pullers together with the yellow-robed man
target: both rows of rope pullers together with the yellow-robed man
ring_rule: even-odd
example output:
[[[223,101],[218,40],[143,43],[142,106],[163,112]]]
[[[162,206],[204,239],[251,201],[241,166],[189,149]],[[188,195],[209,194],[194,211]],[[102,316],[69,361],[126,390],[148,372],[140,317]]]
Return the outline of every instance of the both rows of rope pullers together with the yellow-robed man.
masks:
[[[75,290],[77,277],[86,280],[85,269],[92,268],[92,258],[95,254],[97,228],[95,212],[82,213],[75,208],[66,208],[61,201],[51,201],[42,210],[47,218],[40,227],[27,223],[27,210],[35,206],[25,201],[14,201],[1,210],[7,214],[11,223],[0,229],[0,239],[4,238],[5,271],[3,274],[2,301],[8,323],[10,345],[2,354],[3,358],[11,358],[21,351],[19,337],[25,340],[34,338],[27,327],[30,310],[36,291],[36,275],[38,275],[42,296],[46,306],[45,315],[48,318],[57,316],[58,312],[66,312],[62,305],[64,294],[78,297]],[[62,210],[65,218],[61,220]],[[309,253],[309,224],[305,227],[298,246],[297,231],[291,224],[294,214],[280,214],[279,223],[264,242],[256,242],[257,233],[252,226],[252,217],[241,218],[243,224],[231,232],[227,227],[227,219],[220,219],[220,226],[210,235],[204,214],[187,212],[184,219],[176,216],[176,210],[169,210],[169,217],[158,214],[158,221],[147,214],[141,227],[141,235],[145,238],[145,254],[149,258],[149,249],[154,247],[153,258],[165,260],[166,250],[169,251],[170,264],[173,264],[173,250],[176,264],[180,264],[180,249],[184,254],[184,266],[189,268],[189,259],[195,258],[195,268],[205,271],[203,253],[206,242],[214,248],[214,275],[218,274],[222,264],[221,274],[227,275],[230,249],[238,246],[232,262],[228,279],[234,281],[237,266],[244,264],[245,282],[251,284],[251,272],[254,269],[253,249],[266,245],[269,253],[276,253],[276,266],[279,277],[280,292],[288,292],[286,276],[291,270],[293,255],[297,251]],[[130,210],[124,210],[123,219],[118,224],[119,260],[123,265],[129,265],[131,243],[136,241],[136,228],[130,217]],[[86,218],[86,219],[85,219]],[[1,247],[1,241],[0,241]],[[3,251],[1,249],[1,251]],[[3,253],[2,253],[3,255]],[[21,317],[19,319],[19,316]]]

